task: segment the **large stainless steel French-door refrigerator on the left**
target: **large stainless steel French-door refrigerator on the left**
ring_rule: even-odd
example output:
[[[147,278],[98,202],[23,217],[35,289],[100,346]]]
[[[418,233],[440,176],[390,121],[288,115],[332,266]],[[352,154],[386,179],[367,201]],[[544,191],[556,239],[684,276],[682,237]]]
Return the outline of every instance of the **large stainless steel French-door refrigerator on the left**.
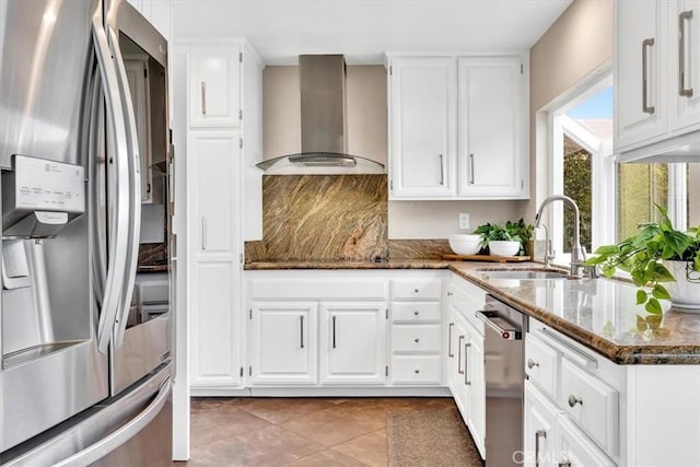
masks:
[[[0,0],[0,465],[170,465],[170,167],[167,44],[145,19]],[[138,313],[154,269],[165,297]]]

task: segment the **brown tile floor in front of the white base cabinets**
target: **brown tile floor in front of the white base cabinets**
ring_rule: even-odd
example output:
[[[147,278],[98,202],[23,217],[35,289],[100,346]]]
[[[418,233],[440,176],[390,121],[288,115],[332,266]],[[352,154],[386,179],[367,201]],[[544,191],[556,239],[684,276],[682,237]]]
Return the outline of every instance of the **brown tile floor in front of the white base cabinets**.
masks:
[[[191,453],[177,466],[386,466],[388,410],[452,398],[195,398]]]

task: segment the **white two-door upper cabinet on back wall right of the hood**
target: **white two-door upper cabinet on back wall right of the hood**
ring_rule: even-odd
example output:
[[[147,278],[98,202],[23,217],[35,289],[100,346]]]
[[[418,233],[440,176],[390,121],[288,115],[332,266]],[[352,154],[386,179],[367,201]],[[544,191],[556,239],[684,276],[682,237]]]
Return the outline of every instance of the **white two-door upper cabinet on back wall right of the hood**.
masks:
[[[388,67],[390,199],[528,197],[525,55]]]

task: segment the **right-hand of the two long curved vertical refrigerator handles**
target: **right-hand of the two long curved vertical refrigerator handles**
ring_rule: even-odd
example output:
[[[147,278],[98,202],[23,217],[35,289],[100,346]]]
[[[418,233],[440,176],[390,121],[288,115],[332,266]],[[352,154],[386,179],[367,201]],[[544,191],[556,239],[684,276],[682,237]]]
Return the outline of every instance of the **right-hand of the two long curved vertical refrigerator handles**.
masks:
[[[127,220],[129,230],[126,237],[127,240],[127,257],[126,268],[124,269],[122,282],[121,282],[121,297],[120,305],[115,322],[114,328],[114,348],[119,349],[124,341],[124,332],[127,327],[127,318],[129,316],[129,307],[131,305],[131,294],[133,293],[133,282],[136,280],[137,262],[139,257],[139,236],[141,231],[141,161],[139,156],[139,140],[136,129],[136,117],[133,112],[133,103],[131,101],[131,92],[129,90],[129,81],[127,79],[126,68],[124,66],[124,59],[121,58],[121,49],[119,48],[119,39],[110,27],[109,34],[109,49],[114,58],[115,68],[117,71],[117,85],[118,92],[121,97],[121,110],[124,122],[126,125],[127,136],[127,151],[128,151],[128,165],[129,165],[129,212]],[[119,220],[122,221],[121,219]]]

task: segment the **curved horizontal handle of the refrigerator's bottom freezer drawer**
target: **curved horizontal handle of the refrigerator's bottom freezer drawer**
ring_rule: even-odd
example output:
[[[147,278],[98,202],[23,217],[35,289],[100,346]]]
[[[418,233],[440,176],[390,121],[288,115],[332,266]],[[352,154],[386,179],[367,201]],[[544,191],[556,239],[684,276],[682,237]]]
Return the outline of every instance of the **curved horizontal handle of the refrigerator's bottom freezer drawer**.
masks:
[[[133,437],[139,431],[143,430],[163,409],[163,406],[167,401],[171,394],[171,378],[168,377],[161,385],[158,395],[143,409],[138,416],[132,418],[128,423],[124,424],[118,430],[112,432],[106,437],[103,437],[98,442],[91,444],[84,450],[73,454],[72,456],[61,460],[54,465],[54,467],[78,467],[88,466],[96,460],[100,460],[112,451],[116,450],[125,442]]]

